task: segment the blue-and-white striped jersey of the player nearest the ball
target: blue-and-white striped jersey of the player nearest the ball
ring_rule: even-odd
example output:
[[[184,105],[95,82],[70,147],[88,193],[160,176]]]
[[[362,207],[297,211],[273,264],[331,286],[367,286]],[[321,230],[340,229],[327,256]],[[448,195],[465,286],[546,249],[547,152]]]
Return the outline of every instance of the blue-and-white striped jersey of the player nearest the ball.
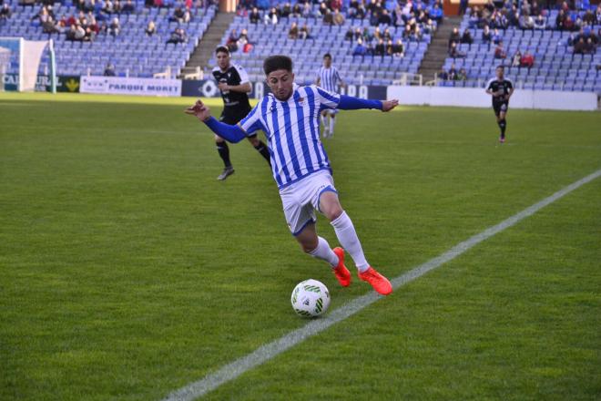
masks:
[[[269,94],[239,122],[247,134],[258,129],[265,132],[278,188],[316,171],[331,171],[320,140],[319,117],[322,110],[337,108],[340,100],[340,95],[321,87],[295,86],[288,100],[280,101]]]

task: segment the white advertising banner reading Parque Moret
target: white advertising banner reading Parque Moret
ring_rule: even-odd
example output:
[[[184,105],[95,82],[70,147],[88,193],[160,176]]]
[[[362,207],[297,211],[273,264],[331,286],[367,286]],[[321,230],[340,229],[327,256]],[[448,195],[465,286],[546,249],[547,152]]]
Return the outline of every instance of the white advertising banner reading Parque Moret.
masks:
[[[111,95],[181,96],[179,79],[81,77],[82,93]]]

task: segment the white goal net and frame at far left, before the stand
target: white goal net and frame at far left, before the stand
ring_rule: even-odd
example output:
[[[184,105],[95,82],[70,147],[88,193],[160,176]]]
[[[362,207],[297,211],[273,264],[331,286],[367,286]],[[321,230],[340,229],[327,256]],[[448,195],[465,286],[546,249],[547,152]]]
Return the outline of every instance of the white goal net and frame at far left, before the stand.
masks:
[[[43,57],[47,58],[47,63],[40,70]],[[10,84],[19,92],[34,91],[40,75],[47,75],[55,93],[56,62],[52,40],[0,37],[0,76],[3,76],[0,82],[5,84],[3,88]]]

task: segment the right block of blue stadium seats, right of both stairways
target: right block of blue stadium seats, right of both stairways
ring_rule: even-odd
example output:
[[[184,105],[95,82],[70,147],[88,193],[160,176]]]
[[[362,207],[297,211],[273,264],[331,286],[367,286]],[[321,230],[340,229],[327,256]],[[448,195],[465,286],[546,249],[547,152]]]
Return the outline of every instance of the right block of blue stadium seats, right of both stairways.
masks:
[[[557,15],[560,10],[541,10],[532,21],[528,21],[527,17],[518,19],[516,15],[516,25],[511,26],[511,23],[506,21],[504,25],[498,26],[496,33],[498,37],[493,37],[492,42],[483,39],[483,26],[492,23],[492,36],[494,36],[494,21],[482,21],[474,10],[468,10],[463,17],[460,32],[469,30],[474,37],[474,43],[471,45],[460,43],[457,47],[464,57],[447,57],[443,66],[445,71],[449,71],[452,67],[457,71],[463,68],[466,78],[443,79],[438,82],[438,85],[484,87],[487,80],[494,77],[494,68],[504,65],[505,75],[514,80],[517,88],[595,91],[601,94],[601,71],[599,71],[601,55],[596,52],[596,46],[593,46],[588,54],[576,54],[574,49],[574,42],[578,35],[588,33],[589,36],[596,36],[596,32],[601,27],[601,21],[595,19],[590,26],[583,25],[582,31],[576,30],[580,24],[578,21],[582,21],[587,9],[595,11],[595,8],[587,7],[579,11],[571,10],[562,13],[570,15],[569,19],[576,23],[573,30],[557,29]],[[523,26],[535,22],[541,24],[539,28],[523,29]],[[503,42],[505,58],[494,57],[497,46],[494,44],[495,39]],[[534,57],[532,67],[520,67],[519,55],[524,55],[526,52]],[[516,53],[518,57],[514,61]],[[524,63],[522,65],[524,66]]]

